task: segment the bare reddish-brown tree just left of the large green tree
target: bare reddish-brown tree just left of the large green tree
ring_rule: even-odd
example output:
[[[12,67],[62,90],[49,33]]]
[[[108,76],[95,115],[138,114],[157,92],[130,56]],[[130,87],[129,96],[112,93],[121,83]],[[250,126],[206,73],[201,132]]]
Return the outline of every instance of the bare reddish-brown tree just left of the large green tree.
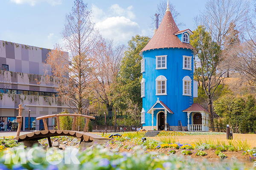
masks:
[[[97,42],[94,49],[92,60],[94,68],[92,75],[95,79],[93,97],[106,106],[110,118],[113,111],[111,86],[116,83],[124,51],[124,45],[113,47],[113,40],[104,40],[103,38]]]

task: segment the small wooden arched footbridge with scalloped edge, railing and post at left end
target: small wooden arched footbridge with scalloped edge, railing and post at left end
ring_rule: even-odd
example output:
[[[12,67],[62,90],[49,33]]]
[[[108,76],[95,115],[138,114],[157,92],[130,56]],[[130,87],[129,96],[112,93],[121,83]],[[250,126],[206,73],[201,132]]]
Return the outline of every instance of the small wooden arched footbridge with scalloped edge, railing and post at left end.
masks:
[[[87,127],[88,127],[88,122],[89,119],[95,119],[93,116],[87,116],[87,115],[81,115],[81,114],[53,114],[53,115],[47,115],[47,116],[41,116],[37,117],[37,120],[43,119],[44,122],[44,129],[45,130],[40,130],[40,131],[34,131],[30,132],[24,135],[20,135],[20,129],[21,129],[21,123],[22,123],[22,116],[21,116],[21,111],[22,107],[19,105],[19,116],[17,116],[17,122],[19,123],[18,129],[17,129],[17,135],[14,139],[16,139],[18,142],[23,142],[25,146],[31,147],[33,144],[38,143],[38,140],[47,138],[49,142],[49,147],[52,147],[52,142],[50,137],[52,136],[73,136],[76,138],[80,138],[81,142],[97,142],[97,143],[105,143],[109,139],[103,138],[101,136],[97,136],[92,133],[87,133]],[[60,121],[59,117],[60,116],[73,116],[73,125],[72,125],[72,130],[60,130]],[[47,118],[51,117],[56,117],[57,120],[57,130],[48,130]],[[84,117],[86,119],[86,123],[84,126],[84,131],[75,131],[75,122],[76,122],[76,117]],[[86,144],[84,144],[86,145]]]

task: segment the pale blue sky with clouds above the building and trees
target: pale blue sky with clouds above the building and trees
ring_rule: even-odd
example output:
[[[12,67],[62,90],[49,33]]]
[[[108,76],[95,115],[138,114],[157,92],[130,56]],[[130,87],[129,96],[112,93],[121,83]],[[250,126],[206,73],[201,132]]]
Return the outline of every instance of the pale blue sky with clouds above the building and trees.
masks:
[[[166,0],[167,1],[167,0]],[[84,0],[93,12],[93,21],[103,37],[127,44],[136,34],[151,36],[151,16],[160,0]],[[170,0],[180,13],[178,22],[195,29],[193,18],[204,9],[206,0]],[[73,0],[1,0],[0,40],[43,48],[61,42],[65,14]]]

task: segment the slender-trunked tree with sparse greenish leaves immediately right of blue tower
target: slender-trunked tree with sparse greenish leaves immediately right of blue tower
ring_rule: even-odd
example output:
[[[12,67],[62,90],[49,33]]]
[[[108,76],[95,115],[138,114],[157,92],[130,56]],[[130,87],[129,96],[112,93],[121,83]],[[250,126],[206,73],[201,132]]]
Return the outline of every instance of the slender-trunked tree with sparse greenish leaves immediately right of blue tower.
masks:
[[[212,40],[211,34],[204,26],[198,26],[191,36],[191,44],[198,53],[195,59],[200,63],[197,68],[198,79],[208,98],[209,125],[213,127],[213,98],[218,85],[223,83],[223,75],[226,73],[224,58],[221,55],[221,47]]]

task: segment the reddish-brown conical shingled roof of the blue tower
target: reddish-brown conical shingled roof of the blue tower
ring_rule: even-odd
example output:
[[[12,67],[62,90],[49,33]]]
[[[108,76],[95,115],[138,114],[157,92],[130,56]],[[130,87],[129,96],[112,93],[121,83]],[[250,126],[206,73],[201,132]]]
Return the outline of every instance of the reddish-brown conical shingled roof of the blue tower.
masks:
[[[157,48],[189,48],[195,50],[191,44],[181,42],[180,39],[174,35],[178,31],[180,30],[173,20],[171,12],[167,11],[157,32],[140,52]]]

